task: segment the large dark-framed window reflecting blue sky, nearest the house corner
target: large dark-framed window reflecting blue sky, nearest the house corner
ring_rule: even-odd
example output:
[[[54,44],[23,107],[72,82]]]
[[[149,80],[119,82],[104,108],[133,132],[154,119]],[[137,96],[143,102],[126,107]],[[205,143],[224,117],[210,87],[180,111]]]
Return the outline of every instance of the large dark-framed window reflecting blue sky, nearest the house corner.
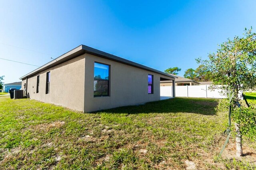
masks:
[[[109,65],[94,63],[94,97],[109,96]]]

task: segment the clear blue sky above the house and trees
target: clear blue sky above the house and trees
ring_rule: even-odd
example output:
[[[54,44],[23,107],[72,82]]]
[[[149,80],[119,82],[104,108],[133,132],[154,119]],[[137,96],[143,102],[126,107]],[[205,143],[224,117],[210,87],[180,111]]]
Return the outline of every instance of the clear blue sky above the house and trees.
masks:
[[[41,66],[84,44],[161,71],[178,66],[183,76],[228,37],[250,26],[255,32],[255,6],[254,0],[2,1],[0,58]],[[0,59],[5,83],[36,68]]]

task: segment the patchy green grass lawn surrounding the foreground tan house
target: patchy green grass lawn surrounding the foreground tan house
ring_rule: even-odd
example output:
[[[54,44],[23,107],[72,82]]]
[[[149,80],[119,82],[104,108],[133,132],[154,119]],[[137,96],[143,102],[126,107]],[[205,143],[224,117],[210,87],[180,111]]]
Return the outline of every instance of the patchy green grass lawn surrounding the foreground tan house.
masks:
[[[81,113],[35,100],[0,98],[0,169],[254,169],[256,143],[237,160],[228,113],[214,99],[174,98]],[[189,162],[191,161],[191,162]]]

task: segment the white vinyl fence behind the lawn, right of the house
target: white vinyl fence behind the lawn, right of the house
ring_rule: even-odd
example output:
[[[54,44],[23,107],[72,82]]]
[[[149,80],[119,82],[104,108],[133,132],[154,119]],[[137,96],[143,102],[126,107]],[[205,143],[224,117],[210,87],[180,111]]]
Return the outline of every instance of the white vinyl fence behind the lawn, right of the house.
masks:
[[[209,85],[199,86],[175,86],[176,97],[191,98],[226,98],[220,94],[220,90],[210,90]],[[160,86],[160,96],[172,97],[172,86]]]

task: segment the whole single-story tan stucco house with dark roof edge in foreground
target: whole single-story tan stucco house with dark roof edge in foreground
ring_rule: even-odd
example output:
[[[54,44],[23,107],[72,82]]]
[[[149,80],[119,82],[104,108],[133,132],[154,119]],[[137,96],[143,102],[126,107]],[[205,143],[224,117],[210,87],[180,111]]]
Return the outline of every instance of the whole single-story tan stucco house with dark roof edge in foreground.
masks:
[[[175,78],[80,45],[20,79],[31,99],[91,112],[160,100],[160,80]]]

